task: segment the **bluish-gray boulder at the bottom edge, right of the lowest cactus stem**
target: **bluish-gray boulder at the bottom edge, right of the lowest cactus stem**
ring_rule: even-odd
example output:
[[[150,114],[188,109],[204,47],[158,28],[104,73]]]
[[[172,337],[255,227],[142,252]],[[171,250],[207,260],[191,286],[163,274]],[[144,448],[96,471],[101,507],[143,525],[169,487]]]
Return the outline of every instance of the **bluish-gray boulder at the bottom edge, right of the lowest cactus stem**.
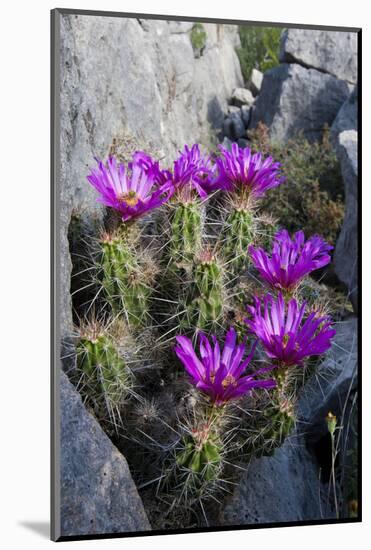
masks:
[[[251,525],[334,517],[319,469],[303,440],[286,440],[273,456],[253,459],[223,510],[223,525]]]

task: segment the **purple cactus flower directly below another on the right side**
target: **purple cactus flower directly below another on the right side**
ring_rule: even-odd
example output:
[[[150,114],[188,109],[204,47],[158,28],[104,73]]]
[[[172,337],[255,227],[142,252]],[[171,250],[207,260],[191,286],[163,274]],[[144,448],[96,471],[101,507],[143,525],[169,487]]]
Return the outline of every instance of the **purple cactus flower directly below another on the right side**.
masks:
[[[300,305],[294,298],[285,304],[282,294],[264,296],[263,307],[255,297],[255,306],[248,307],[252,319],[245,322],[276,366],[303,365],[306,357],[330,348],[336,334],[330,317],[312,311],[303,320],[305,310],[306,303]]]

